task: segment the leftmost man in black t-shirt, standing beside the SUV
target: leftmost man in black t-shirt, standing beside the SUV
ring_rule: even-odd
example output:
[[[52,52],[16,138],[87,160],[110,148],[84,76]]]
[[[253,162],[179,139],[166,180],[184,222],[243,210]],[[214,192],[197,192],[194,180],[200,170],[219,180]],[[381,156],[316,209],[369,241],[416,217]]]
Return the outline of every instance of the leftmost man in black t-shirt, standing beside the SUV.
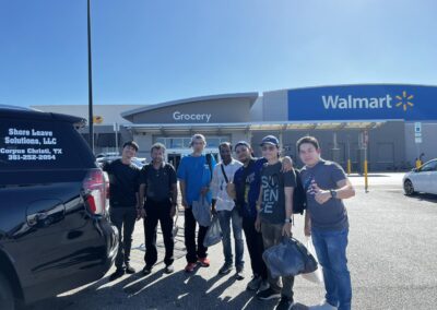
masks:
[[[138,186],[140,169],[132,164],[139,146],[135,142],[126,142],[122,147],[121,159],[105,164],[103,170],[109,176],[109,205],[110,220],[119,231],[119,247],[116,257],[116,272],[109,277],[114,281],[126,273],[133,274],[135,270],[130,265],[130,250],[132,234],[137,218]]]

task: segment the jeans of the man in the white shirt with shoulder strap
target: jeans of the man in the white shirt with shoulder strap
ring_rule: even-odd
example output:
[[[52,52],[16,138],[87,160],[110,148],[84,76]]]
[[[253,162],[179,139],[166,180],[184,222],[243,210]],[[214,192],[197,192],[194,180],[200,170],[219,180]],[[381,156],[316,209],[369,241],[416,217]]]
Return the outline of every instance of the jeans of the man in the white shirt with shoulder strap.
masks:
[[[245,262],[243,261],[243,253],[245,250],[245,242],[243,241],[243,217],[238,214],[238,210],[234,207],[232,211],[223,210],[217,211],[220,227],[223,234],[223,254],[225,263],[233,264],[233,253],[231,246],[231,220],[235,240],[235,266],[237,270],[243,270]]]

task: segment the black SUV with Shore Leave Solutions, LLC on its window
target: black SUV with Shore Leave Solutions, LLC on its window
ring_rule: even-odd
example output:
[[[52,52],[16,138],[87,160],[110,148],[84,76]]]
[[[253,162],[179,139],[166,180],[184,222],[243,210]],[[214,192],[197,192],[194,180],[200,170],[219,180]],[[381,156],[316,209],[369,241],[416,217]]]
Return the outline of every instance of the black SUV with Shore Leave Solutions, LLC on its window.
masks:
[[[76,117],[0,106],[0,308],[101,278],[118,249],[108,181]]]

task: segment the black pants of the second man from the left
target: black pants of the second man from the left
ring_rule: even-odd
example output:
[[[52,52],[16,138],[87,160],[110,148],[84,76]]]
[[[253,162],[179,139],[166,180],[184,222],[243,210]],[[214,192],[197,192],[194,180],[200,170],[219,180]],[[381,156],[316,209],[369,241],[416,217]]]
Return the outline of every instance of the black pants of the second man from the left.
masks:
[[[157,261],[156,250],[156,230],[160,220],[161,229],[164,237],[165,258],[164,263],[168,266],[173,264],[173,252],[175,248],[175,239],[173,236],[173,217],[170,216],[170,201],[154,202],[147,200],[145,202],[144,218],[144,238],[145,238],[145,255],[144,261],[147,266],[153,266]]]

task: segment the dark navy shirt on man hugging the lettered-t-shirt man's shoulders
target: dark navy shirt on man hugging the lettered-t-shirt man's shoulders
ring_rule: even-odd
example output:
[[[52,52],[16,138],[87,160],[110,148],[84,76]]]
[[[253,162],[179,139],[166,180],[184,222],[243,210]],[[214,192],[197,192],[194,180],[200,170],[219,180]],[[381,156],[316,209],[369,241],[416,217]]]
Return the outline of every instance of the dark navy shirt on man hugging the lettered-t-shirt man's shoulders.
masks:
[[[244,217],[257,217],[260,172],[264,163],[267,163],[265,158],[250,159],[247,167],[240,167],[234,175],[237,206],[243,208]]]

